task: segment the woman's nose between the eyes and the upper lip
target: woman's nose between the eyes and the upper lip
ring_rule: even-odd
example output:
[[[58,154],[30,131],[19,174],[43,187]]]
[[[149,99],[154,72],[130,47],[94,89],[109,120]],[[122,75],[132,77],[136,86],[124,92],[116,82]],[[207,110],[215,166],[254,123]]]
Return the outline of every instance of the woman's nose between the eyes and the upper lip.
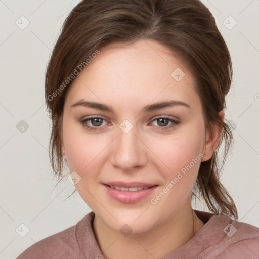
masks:
[[[118,129],[118,136],[113,141],[111,162],[123,171],[142,167],[147,163],[147,147],[133,127],[130,132]]]

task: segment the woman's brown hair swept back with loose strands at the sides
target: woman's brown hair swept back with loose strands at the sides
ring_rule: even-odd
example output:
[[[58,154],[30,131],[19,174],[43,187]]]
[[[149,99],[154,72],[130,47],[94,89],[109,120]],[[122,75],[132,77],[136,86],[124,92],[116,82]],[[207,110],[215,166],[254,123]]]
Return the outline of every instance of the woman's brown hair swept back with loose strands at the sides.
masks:
[[[222,126],[219,145],[209,160],[201,162],[194,189],[209,210],[237,219],[235,203],[220,181],[220,171],[233,144],[231,129],[218,114],[225,109],[230,89],[231,58],[214,17],[198,0],[83,0],[73,8],[54,47],[45,80],[46,103],[53,123],[50,159],[55,174],[62,177],[60,133],[71,75],[80,64],[86,67],[87,58],[98,48],[112,42],[133,44],[141,39],[160,42],[190,64],[206,128],[210,130],[213,122]],[[219,168],[218,153],[223,141],[224,158]]]

